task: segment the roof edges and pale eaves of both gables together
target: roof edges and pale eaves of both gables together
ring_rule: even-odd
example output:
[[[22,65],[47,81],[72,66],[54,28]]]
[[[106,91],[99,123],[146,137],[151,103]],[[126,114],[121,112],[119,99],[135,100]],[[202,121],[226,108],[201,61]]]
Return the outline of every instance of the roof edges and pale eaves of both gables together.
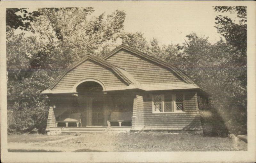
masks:
[[[117,67],[116,65],[109,63],[107,61],[107,59],[111,56],[113,56],[114,54],[116,54],[118,51],[120,50],[127,50],[130,51],[132,53],[134,53],[135,55],[138,55],[142,58],[145,58],[153,63],[157,63],[161,66],[166,67],[167,69],[172,70],[176,75],[178,75],[181,79],[183,79],[185,81],[185,83],[176,83],[176,84],[170,84],[170,83],[166,83],[166,84],[140,84],[135,78],[132,77],[131,74],[129,74],[126,70],[124,70],[123,68]],[[179,89],[199,89],[200,91],[203,91],[199,86],[197,86],[190,78],[188,78],[183,72],[181,72],[177,67],[171,65],[170,63],[166,63],[162,60],[159,60],[153,56],[149,56],[145,53],[140,52],[137,49],[134,48],[130,48],[126,45],[120,45],[117,48],[115,48],[114,50],[112,50],[110,53],[108,53],[106,56],[103,57],[103,59],[100,59],[96,56],[91,56],[91,55],[87,55],[86,57],[84,57],[83,59],[80,59],[72,64],[70,64],[65,70],[62,71],[62,73],[60,73],[60,75],[58,76],[58,78],[55,80],[55,82],[53,82],[49,88],[47,90],[45,90],[44,92],[42,92],[43,94],[51,94],[51,93],[55,93],[56,91],[52,91],[52,89],[60,82],[60,80],[71,70],[73,70],[74,68],[76,68],[78,65],[84,63],[86,60],[91,60],[93,62],[99,63],[105,67],[110,68],[111,70],[113,70],[117,76],[119,76],[128,86],[126,88],[123,89],[141,89],[144,91],[156,91],[156,90],[179,90]],[[122,89],[122,90],[123,90]],[[120,90],[120,89],[113,89],[113,90]],[[108,91],[112,91],[112,90],[108,90]],[[72,92],[72,91],[71,91]],[[61,93],[71,93],[70,91],[62,91]],[[58,91],[56,93],[59,93]],[[203,93],[206,93],[205,91],[203,91]],[[206,93],[207,95],[209,95],[209,93]]]

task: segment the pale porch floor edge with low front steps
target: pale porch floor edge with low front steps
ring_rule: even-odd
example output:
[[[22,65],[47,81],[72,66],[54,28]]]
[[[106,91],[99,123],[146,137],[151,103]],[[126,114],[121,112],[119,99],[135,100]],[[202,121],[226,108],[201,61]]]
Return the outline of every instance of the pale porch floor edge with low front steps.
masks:
[[[50,131],[59,131],[61,133],[102,133],[106,131],[129,132],[131,126],[86,126],[86,127],[51,127]]]

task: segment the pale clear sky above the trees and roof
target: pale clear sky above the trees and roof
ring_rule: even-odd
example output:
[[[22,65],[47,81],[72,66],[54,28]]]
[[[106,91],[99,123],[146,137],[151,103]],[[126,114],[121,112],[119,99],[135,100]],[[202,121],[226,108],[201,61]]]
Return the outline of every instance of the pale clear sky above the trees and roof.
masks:
[[[100,1],[84,2],[81,7],[94,7],[92,16],[115,10],[124,10],[125,32],[144,33],[147,41],[156,38],[160,45],[181,44],[186,35],[195,32],[198,36],[209,37],[211,43],[220,40],[215,17],[219,14],[208,3],[179,3],[177,1]],[[30,11],[35,8],[30,8]],[[226,14],[227,15],[227,14]],[[235,18],[235,15],[228,15]]]

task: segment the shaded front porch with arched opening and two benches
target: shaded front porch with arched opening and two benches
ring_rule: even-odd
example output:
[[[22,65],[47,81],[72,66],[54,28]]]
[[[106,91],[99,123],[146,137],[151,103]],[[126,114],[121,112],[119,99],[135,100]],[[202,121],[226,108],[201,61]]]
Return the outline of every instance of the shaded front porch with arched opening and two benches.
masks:
[[[48,95],[51,101],[47,131],[58,133],[101,133],[130,131],[135,118],[134,98],[128,91],[105,92],[104,85],[86,81],[76,93]]]

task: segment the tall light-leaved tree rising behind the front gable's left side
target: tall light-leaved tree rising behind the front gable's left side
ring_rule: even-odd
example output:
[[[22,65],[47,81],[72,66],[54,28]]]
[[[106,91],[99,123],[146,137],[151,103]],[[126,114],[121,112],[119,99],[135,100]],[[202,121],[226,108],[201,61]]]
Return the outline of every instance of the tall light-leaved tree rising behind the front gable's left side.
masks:
[[[88,53],[99,56],[102,47],[115,42],[124,27],[124,11],[116,10],[107,17],[102,13],[90,20],[88,16],[94,11],[91,7],[41,8],[39,11],[41,15],[32,27],[39,33],[39,39],[59,50],[48,57],[62,67]]]

